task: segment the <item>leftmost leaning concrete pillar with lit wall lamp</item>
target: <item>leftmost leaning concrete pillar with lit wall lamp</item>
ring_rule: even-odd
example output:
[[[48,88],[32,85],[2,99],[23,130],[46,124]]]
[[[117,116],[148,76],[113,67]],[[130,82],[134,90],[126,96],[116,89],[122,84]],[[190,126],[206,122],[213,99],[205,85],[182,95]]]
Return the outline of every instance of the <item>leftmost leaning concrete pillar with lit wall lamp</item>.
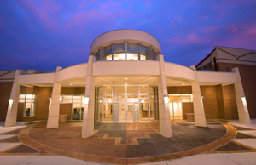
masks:
[[[9,97],[9,105],[7,115],[4,122],[4,127],[10,127],[16,125],[17,111],[18,111],[18,100],[20,95],[20,85],[18,84],[20,70],[15,71],[15,79],[13,88]]]

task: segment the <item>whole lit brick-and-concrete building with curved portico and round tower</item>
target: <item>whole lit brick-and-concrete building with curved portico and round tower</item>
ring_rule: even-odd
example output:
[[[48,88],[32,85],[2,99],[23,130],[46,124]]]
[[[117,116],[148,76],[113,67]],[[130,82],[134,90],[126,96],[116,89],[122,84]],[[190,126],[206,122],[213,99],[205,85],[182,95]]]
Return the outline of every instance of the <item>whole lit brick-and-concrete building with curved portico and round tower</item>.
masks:
[[[159,41],[136,30],[103,33],[91,43],[88,63],[56,71],[0,71],[0,121],[83,121],[82,137],[94,122],[160,122],[172,136],[172,120],[193,114],[195,126],[207,119],[256,117],[256,52],[215,47],[198,65],[164,61]]]

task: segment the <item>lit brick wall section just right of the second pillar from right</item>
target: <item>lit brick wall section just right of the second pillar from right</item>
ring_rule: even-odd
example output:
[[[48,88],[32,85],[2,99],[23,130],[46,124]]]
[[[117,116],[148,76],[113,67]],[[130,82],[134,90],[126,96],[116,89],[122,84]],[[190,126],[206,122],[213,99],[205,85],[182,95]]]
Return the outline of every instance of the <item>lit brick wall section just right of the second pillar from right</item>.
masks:
[[[218,118],[218,105],[216,99],[216,89],[215,86],[201,86],[201,95],[204,97],[203,105],[205,109],[205,114],[210,119]]]

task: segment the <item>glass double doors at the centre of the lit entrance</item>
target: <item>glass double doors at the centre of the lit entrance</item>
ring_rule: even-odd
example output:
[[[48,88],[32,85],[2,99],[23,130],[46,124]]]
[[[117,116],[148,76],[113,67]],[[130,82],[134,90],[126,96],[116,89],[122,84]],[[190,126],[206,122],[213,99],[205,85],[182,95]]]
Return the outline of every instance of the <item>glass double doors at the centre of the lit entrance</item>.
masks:
[[[119,104],[120,122],[133,122],[133,104],[121,103]]]

